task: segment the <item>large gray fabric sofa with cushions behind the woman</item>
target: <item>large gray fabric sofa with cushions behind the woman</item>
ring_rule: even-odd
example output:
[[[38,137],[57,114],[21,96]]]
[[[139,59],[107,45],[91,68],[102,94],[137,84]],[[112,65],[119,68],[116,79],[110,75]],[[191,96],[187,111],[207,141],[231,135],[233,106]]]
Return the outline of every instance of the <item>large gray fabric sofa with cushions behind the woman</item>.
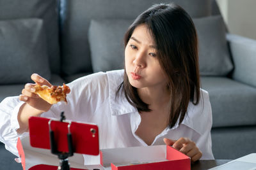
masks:
[[[61,85],[122,68],[125,29],[141,11],[166,2],[0,0],[0,101],[19,95],[34,72]],[[214,0],[173,2],[188,11],[198,30],[202,88],[212,104],[214,157],[256,152],[256,41],[227,34]],[[0,158],[8,154],[3,146]]]

